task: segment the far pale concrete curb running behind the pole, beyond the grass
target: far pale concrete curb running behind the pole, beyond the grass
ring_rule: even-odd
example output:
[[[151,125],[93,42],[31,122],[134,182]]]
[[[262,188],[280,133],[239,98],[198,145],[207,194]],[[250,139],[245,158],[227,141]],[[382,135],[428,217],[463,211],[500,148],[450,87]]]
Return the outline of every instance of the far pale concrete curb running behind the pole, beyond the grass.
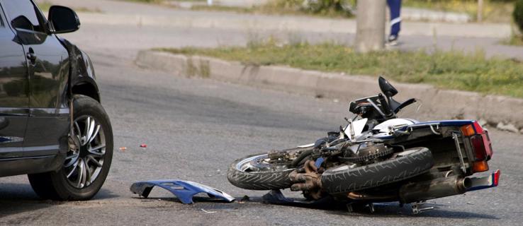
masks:
[[[124,15],[103,13],[79,13],[81,23],[94,25],[136,25],[159,28],[221,28],[229,30],[270,30],[282,32],[333,32],[356,33],[356,20],[314,18],[305,16],[266,16],[214,12],[211,16],[191,15]],[[214,15],[214,16],[213,16]],[[303,23],[306,20],[307,23]],[[490,37],[507,38],[512,28],[507,24],[495,23],[421,23],[405,21],[402,35],[449,36],[449,37]]]

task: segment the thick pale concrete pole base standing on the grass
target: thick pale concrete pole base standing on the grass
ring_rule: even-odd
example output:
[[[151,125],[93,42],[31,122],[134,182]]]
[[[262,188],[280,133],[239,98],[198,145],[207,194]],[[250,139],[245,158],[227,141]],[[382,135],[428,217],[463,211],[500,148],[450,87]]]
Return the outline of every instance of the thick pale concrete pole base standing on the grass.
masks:
[[[385,47],[386,0],[360,0],[356,15],[356,51],[371,52]]]

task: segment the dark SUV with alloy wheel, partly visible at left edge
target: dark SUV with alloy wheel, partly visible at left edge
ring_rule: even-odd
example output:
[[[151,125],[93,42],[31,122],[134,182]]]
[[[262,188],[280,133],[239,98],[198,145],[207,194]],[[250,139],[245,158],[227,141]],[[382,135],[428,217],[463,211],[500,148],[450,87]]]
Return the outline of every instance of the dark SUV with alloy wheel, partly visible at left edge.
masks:
[[[111,166],[91,60],[57,36],[79,26],[67,7],[45,18],[32,0],[0,0],[0,177],[28,174],[42,198],[92,198]]]

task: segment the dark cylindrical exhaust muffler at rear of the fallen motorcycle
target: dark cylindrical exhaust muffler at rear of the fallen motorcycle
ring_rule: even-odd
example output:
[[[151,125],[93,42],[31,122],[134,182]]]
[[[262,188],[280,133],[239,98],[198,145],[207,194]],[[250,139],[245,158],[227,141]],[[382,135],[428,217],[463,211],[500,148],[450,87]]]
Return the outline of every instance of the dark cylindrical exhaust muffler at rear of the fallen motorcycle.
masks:
[[[414,203],[434,198],[464,194],[471,188],[469,178],[459,176],[438,178],[431,181],[405,184],[400,188],[400,200]]]

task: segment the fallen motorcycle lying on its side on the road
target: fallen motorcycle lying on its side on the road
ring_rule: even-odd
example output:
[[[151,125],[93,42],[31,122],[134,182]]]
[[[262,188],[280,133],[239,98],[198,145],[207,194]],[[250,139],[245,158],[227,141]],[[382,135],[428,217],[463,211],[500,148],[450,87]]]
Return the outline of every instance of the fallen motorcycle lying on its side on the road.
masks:
[[[381,77],[378,83],[383,94],[350,102],[355,117],[347,126],[310,145],[236,160],[227,179],[242,189],[290,188],[311,201],[412,203],[414,213],[429,199],[497,186],[499,169],[471,177],[488,171],[493,155],[478,121],[398,118],[417,100],[399,103],[393,85]]]

